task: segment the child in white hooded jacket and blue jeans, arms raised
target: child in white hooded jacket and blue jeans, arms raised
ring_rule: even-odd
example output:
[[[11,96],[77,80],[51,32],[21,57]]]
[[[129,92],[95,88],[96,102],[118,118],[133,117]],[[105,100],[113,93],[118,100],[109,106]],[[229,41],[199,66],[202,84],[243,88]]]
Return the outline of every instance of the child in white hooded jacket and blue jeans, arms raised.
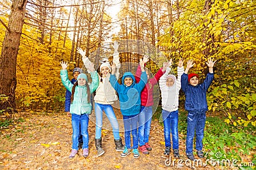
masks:
[[[167,66],[172,66],[172,59]],[[166,64],[164,64],[166,67]],[[166,72],[159,80],[159,87],[162,97],[162,117],[164,122],[164,141],[165,141],[165,155],[170,155],[170,149],[173,148],[173,156],[179,158],[179,91],[181,87],[180,78],[184,73],[183,60],[179,60],[177,67],[178,77],[169,74],[171,68],[167,67]],[[172,145],[170,134],[172,133]]]

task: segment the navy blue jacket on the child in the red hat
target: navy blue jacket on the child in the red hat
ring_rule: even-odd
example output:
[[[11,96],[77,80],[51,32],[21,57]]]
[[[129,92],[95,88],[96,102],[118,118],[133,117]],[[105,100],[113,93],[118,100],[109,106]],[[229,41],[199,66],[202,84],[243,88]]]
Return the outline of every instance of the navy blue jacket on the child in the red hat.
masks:
[[[182,74],[181,89],[186,96],[185,110],[196,113],[202,113],[208,110],[206,92],[210,87],[213,78],[214,73],[208,73],[203,83],[193,86],[188,82],[188,74]]]

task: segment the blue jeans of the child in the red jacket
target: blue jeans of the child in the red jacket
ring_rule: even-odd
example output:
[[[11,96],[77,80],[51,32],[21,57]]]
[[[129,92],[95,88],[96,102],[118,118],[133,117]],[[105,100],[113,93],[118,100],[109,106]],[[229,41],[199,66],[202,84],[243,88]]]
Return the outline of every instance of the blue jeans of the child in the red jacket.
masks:
[[[150,125],[152,120],[152,106],[141,106],[140,114],[139,114],[139,141],[140,146],[148,143],[149,133],[150,133]]]

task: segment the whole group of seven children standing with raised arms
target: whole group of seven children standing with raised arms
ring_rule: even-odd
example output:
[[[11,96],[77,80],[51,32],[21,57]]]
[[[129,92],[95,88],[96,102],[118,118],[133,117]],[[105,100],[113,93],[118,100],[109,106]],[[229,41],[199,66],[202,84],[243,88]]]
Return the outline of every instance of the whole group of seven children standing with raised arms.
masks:
[[[164,123],[164,154],[170,155],[170,150],[173,148],[173,156],[179,158],[179,91],[182,89],[186,96],[185,109],[188,111],[188,127],[186,138],[186,155],[188,159],[195,160],[193,155],[193,138],[196,131],[196,154],[198,157],[204,157],[202,152],[202,139],[204,138],[205,112],[207,111],[206,92],[214,78],[213,66],[216,62],[209,59],[206,63],[209,67],[203,83],[199,84],[198,74],[188,71],[194,66],[193,60],[188,60],[186,70],[184,71],[183,60],[180,59],[177,67],[177,78],[170,73],[172,59],[170,62],[164,62],[163,68],[157,71],[153,78],[149,78],[149,71],[145,68],[148,62],[147,57],[140,59],[140,64],[136,71],[136,76],[131,72],[126,72],[122,76],[122,83],[118,83],[120,61],[118,53],[118,43],[114,42],[113,48],[113,64],[103,62],[100,65],[100,74],[94,69],[94,65],[88,57],[85,56],[83,50],[78,48],[78,52],[83,57],[84,66],[88,73],[91,74],[92,83],[88,83],[86,74],[82,73],[81,69],[75,68],[73,71],[74,78],[77,80],[68,80],[66,62],[61,62],[61,81],[70,92],[66,93],[67,102],[65,103],[65,111],[70,111],[72,115],[72,152],[69,158],[76,156],[79,144],[83,145],[83,156],[88,157],[88,120],[92,113],[92,104],[90,101],[91,94],[95,91],[95,147],[97,155],[104,154],[102,148],[102,114],[103,111],[111,123],[115,150],[122,151],[121,157],[126,157],[133,153],[134,158],[140,156],[139,151],[143,154],[148,154],[152,150],[148,144],[150,134],[150,124],[152,120],[152,106],[154,85],[159,81],[161,90],[162,116]],[[77,72],[77,73],[76,73]],[[77,74],[79,75],[77,76]],[[123,115],[125,145],[122,144],[122,139],[119,134],[119,126],[113,111],[113,104],[117,99],[118,93],[120,110]],[[68,100],[70,96],[70,100]],[[70,104],[70,110],[68,110]],[[68,112],[69,115],[69,112]],[[172,133],[172,145],[170,134]],[[132,134],[132,145],[131,145]],[[79,139],[82,136],[83,141]],[[81,137],[80,137],[81,138]]]

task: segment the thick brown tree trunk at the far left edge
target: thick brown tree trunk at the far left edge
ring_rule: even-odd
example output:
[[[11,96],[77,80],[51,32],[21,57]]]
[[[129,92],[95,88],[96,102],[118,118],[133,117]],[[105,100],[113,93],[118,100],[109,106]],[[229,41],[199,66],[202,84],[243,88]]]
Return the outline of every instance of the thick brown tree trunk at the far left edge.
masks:
[[[24,24],[24,15],[27,0],[13,0],[0,58],[0,95],[8,97],[7,101],[0,103],[0,110],[12,113],[16,110],[15,89],[16,63],[20,45],[20,36]]]

